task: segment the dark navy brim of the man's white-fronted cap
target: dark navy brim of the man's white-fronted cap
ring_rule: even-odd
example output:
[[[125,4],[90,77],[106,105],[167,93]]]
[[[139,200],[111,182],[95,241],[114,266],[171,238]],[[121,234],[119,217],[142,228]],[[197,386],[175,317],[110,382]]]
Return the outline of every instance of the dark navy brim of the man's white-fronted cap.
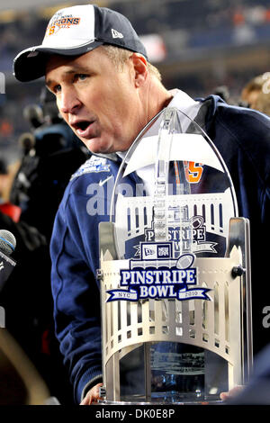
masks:
[[[14,58],[14,76],[21,82],[33,81],[45,75],[46,64],[51,55],[78,56],[102,44],[102,41],[93,41],[74,49],[52,49],[42,45],[25,49]]]

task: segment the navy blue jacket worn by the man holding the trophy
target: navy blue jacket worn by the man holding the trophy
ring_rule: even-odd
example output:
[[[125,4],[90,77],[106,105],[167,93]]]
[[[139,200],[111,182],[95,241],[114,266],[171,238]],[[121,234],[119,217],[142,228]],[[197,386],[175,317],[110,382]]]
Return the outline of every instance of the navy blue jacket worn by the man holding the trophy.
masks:
[[[228,166],[237,194],[238,215],[250,220],[257,352],[270,338],[270,329],[262,324],[263,310],[270,306],[270,278],[264,270],[266,251],[261,251],[267,247],[266,218],[270,210],[270,119],[253,110],[229,106],[217,96],[206,98],[203,104],[204,129]],[[111,175],[115,177],[119,165],[119,161],[93,156],[81,166],[67,185],[51,238],[56,334],[76,402],[81,401],[85,385],[89,388],[102,380],[100,299],[95,271],[99,267],[98,223],[108,220],[106,190],[110,180],[102,186],[99,183]],[[97,198],[100,210],[91,216],[89,211]]]

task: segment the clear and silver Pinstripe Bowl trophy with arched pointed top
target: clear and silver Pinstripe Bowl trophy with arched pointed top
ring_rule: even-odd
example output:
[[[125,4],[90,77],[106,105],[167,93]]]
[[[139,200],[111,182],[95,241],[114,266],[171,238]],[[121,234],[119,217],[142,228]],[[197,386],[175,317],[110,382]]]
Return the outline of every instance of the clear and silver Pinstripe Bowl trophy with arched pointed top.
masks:
[[[99,226],[104,403],[200,403],[252,366],[248,220],[219,152],[174,107],[124,157]]]

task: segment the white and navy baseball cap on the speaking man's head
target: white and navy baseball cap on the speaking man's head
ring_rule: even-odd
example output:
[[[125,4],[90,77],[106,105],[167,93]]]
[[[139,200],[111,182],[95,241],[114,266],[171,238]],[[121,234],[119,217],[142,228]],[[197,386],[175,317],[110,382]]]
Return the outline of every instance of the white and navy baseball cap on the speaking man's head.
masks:
[[[32,81],[45,75],[49,55],[77,56],[103,44],[147,58],[136,31],[122,14],[96,4],[60,9],[50,19],[42,44],[24,49],[14,58],[14,76],[22,82]]]

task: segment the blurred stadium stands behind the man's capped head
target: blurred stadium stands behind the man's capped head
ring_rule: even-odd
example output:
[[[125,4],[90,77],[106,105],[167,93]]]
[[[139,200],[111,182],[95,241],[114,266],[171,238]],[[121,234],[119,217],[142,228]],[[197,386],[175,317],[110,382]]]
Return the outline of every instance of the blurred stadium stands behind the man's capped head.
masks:
[[[29,130],[23,109],[38,103],[42,79],[18,83],[14,56],[39,44],[49,17],[78,2],[9,0],[0,4],[0,151],[8,164],[20,157],[18,138]],[[238,103],[243,85],[270,69],[270,1],[107,0],[94,2],[127,15],[144,41],[166,87],[193,97],[226,86]],[[4,84],[3,84],[4,81]]]

